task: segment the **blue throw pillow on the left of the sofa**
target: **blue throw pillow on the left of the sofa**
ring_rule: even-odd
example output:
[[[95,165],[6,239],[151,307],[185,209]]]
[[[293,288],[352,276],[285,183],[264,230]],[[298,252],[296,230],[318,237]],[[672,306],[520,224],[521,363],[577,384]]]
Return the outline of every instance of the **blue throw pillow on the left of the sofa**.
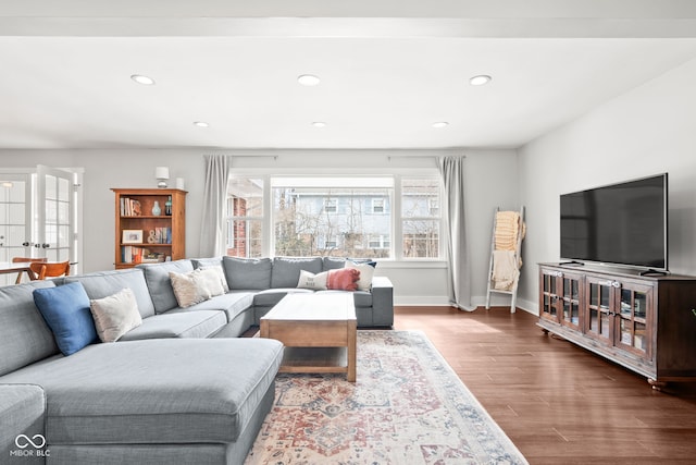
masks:
[[[34,290],[34,303],[48,323],[58,348],[71,355],[99,341],[89,297],[79,282]]]

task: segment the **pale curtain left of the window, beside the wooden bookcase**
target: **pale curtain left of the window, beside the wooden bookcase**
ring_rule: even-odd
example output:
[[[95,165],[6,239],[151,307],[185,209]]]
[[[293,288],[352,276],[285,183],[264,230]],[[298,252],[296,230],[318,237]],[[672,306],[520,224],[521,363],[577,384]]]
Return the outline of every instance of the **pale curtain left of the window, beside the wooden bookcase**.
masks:
[[[206,184],[203,186],[203,218],[200,230],[201,257],[225,255],[225,201],[232,160],[224,155],[206,155]]]

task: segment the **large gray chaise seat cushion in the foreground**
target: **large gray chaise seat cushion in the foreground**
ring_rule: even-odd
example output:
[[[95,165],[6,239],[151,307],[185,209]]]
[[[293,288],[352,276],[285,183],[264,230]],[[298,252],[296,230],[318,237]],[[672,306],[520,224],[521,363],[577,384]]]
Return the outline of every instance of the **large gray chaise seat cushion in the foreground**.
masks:
[[[44,387],[51,444],[226,443],[252,420],[282,358],[283,344],[261,338],[117,342],[2,381]]]

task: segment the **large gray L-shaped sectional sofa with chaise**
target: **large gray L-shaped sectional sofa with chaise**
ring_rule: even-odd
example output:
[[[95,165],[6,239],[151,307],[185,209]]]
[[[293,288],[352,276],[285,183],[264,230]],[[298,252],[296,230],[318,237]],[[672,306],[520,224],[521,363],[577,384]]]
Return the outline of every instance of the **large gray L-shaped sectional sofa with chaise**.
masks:
[[[0,463],[243,463],[273,404],[283,346],[237,336],[287,293],[344,292],[297,287],[302,270],[343,266],[186,259],[0,287]],[[222,268],[228,291],[182,308],[170,272],[197,268]],[[76,282],[90,299],[132,290],[141,325],[63,355],[33,294]],[[359,326],[391,326],[388,279],[353,294]]]

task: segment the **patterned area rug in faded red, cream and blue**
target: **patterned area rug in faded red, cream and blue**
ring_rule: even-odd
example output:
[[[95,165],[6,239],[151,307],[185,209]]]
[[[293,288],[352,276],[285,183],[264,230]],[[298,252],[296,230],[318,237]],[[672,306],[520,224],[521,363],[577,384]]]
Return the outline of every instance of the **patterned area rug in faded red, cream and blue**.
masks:
[[[358,380],[278,375],[246,464],[526,464],[419,331],[358,331]]]

